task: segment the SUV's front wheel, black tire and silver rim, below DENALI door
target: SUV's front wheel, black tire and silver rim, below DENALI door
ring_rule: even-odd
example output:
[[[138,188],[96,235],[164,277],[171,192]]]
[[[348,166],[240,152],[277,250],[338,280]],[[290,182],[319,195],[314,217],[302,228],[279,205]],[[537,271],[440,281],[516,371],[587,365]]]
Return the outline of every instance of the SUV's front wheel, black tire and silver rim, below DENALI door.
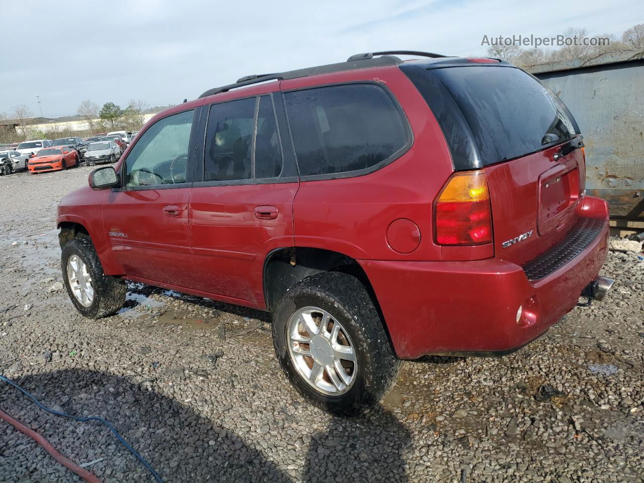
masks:
[[[62,249],[62,278],[76,310],[90,319],[111,316],[123,307],[125,280],[107,276],[91,238],[73,238]]]

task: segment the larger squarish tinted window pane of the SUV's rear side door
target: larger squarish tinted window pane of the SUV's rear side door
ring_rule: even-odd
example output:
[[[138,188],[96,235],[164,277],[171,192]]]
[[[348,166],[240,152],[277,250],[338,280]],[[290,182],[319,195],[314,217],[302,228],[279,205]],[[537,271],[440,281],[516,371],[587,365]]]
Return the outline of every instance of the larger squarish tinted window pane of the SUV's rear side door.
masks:
[[[213,104],[205,131],[204,181],[249,180],[256,98]]]

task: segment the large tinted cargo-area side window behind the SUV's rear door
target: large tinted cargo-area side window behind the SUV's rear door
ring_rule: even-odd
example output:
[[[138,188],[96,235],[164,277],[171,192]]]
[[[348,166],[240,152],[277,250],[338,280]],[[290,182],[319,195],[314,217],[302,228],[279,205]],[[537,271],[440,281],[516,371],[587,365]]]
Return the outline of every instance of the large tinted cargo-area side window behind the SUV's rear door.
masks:
[[[406,120],[375,84],[346,84],[285,93],[299,174],[368,169],[406,146]]]

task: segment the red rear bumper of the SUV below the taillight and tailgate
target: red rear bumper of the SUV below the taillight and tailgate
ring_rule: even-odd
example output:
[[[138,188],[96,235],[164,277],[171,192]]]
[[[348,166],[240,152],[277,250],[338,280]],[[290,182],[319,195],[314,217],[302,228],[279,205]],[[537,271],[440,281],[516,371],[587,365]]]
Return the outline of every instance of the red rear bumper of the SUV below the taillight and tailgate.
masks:
[[[398,357],[504,352],[543,334],[575,307],[606,258],[607,205],[588,196],[584,207],[581,216],[603,220],[599,233],[572,260],[536,281],[498,258],[361,260]]]

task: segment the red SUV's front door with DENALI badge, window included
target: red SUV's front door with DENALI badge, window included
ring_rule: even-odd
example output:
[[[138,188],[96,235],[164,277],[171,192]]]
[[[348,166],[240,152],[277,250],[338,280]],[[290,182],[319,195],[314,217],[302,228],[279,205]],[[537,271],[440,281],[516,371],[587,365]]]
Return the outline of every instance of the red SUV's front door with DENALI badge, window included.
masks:
[[[182,111],[141,133],[120,166],[122,188],[106,196],[104,229],[115,261],[130,278],[191,286],[187,208],[195,118],[195,109]]]

